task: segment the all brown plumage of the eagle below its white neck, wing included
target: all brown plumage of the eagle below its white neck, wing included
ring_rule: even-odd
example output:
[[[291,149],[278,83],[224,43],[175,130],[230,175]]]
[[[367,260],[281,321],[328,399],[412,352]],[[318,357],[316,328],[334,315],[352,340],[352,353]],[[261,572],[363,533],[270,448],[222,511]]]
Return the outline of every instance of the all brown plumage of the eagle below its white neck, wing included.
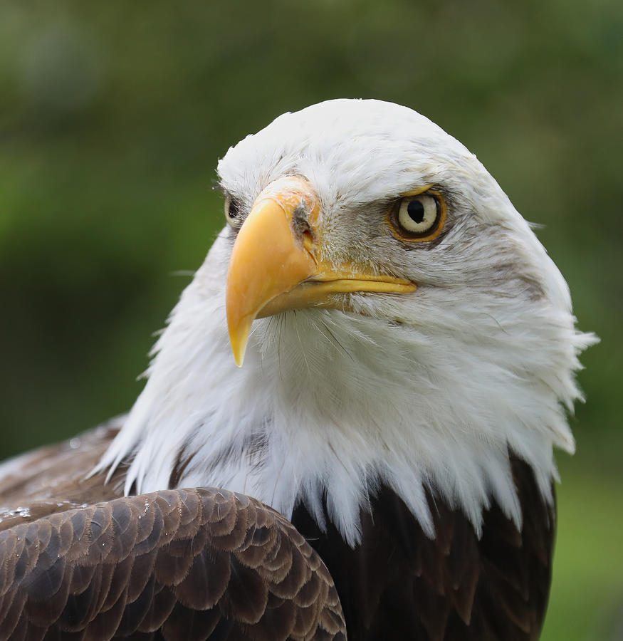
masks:
[[[555,514],[518,459],[521,531],[493,503],[478,538],[461,511],[429,493],[430,539],[381,488],[352,549],[303,506],[297,531],[227,491],[124,498],[122,470],[108,484],[85,479],[115,433],[99,428],[0,467],[0,641],[337,640],[340,600],[350,641],[540,634]]]

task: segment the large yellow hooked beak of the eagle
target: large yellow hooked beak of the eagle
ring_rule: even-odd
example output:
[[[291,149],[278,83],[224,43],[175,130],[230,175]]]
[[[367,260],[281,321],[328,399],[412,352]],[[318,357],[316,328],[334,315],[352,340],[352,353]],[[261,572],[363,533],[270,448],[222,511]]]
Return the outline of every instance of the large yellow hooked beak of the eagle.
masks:
[[[404,293],[416,285],[354,264],[323,260],[320,207],[310,184],[297,177],[261,192],[238,232],[227,274],[227,325],[236,365],[244,360],[251,323],[288,309],[335,307],[335,293]]]

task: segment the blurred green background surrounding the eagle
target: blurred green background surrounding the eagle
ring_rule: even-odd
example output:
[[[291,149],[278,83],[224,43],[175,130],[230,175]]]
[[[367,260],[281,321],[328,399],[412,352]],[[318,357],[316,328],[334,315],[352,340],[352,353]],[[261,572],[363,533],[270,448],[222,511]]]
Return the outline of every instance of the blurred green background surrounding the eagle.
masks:
[[[0,457],[124,412],[223,224],[216,160],[382,98],[464,142],[570,283],[587,404],[543,639],[622,639],[620,0],[0,0]]]

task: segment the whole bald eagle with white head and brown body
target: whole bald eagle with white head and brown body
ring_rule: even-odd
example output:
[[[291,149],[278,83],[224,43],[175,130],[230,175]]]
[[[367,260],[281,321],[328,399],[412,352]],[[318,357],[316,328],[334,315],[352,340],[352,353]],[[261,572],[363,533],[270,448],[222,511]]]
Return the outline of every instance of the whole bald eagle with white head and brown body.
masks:
[[[377,100],[218,173],[132,410],[0,467],[0,640],[537,639],[595,338],[528,223]]]

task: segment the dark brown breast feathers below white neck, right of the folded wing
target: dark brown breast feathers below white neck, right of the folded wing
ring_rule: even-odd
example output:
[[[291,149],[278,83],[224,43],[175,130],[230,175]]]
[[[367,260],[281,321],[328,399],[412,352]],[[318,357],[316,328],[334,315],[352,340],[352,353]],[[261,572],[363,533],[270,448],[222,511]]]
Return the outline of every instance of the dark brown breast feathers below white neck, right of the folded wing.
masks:
[[[322,533],[303,506],[292,522],[335,581],[350,641],[532,641],[545,617],[555,511],[532,469],[513,459],[523,507],[518,531],[493,502],[483,534],[429,491],[435,538],[387,488],[362,513],[362,543],[352,549],[332,524]]]

